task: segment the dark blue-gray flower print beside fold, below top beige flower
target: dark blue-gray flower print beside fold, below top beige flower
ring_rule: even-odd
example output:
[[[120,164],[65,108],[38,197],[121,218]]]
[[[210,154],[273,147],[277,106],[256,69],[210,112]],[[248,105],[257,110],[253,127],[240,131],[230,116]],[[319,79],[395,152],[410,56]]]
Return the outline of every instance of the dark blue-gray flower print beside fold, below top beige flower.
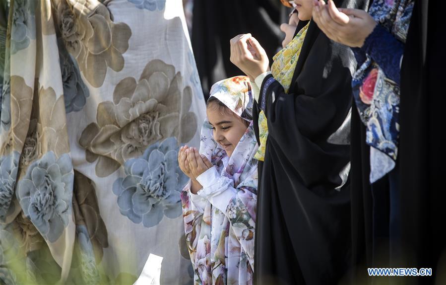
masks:
[[[68,54],[64,42],[59,39],[59,57],[64,87],[65,112],[80,111],[90,96],[90,91],[82,80],[76,61]]]

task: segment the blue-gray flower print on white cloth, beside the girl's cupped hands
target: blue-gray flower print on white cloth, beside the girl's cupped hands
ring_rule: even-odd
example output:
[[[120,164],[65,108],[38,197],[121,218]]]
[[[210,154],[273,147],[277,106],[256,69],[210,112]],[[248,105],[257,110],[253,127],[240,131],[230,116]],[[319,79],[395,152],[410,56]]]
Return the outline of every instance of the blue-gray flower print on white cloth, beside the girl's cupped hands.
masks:
[[[178,143],[168,138],[150,145],[139,158],[124,164],[126,177],[113,184],[121,214],[145,227],[157,225],[163,213],[169,218],[182,213],[180,191],[187,176],[178,166]]]

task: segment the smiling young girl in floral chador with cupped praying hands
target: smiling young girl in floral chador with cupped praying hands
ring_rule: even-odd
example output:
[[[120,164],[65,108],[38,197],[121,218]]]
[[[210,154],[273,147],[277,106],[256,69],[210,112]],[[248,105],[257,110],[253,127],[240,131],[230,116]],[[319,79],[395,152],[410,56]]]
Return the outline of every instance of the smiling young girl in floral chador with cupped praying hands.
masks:
[[[258,145],[250,80],[215,83],[207,101],[200,149],[183,146],[181,193],[194,284],[253,284]]]

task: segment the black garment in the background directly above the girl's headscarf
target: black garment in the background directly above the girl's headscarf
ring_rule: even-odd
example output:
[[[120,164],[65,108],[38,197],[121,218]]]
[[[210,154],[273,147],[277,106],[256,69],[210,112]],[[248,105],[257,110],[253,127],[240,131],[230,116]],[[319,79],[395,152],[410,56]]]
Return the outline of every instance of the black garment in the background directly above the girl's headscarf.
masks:
[[[241,74],[229,61],[233,37],[251,33],[272,60],[284,37],[284,9],[279,0],[194,0],[191,42],[205,99],[212,84]]]

